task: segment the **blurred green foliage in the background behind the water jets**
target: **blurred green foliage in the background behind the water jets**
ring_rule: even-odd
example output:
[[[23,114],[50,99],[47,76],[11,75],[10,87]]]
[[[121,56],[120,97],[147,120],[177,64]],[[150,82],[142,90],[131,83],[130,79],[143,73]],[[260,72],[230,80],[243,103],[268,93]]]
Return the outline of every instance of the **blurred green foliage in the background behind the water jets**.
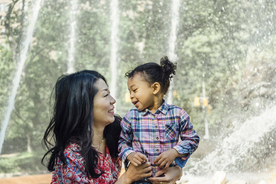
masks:
[[[2,119],[30,23],[27,17],[32,4],[28,2],[12,1],[3,20],[6,41],[0,45]],[[19,3],[23,6],[16,8]],[[78,3],[75,70],[97,70],[110,82],[110,1],[80,0]],[[181,1],[175,45],[178,69],[173,80],[177,95],[173,104],[189,113],[200,135],[204,134],[205,116],[211,137],[216,139],[218,132],[223,133],[233,121],[243,121],[253,112],[260,113],[275,98],[271,89],[276,83],[275,5],[275,1]],[[70,9],[70,4],[63,0],[41,4],[3,154],[42,150],[40,141],[50,120],[50,95],[57,78],[67,71]],[[173,10],[167,1],[130,0],[119,1],[119,13],[119,66],[113,70],[119,71],[117,113],[124,116],[133,107],[125,102],[128,93],[125,73],[137,64],[159,63],[160,58],[168,55]],[[202,80],[211,110],[206,115],[201,106],[193,104],[195,97],[202,97]],[[267,83],[258,88],[256,81]],[[252,87],[257,91],[265,87],[267,92],[254,96],[248,93]],[[253,99],[262,103],[257,110],[252,104],[258,100]],[[11,146],[14,140],[16,149]],[[17,162],[1,158],[0,168],[7,169],[1,172],[20,168],[15,164],[14,170],[9,169],[5,163]]]

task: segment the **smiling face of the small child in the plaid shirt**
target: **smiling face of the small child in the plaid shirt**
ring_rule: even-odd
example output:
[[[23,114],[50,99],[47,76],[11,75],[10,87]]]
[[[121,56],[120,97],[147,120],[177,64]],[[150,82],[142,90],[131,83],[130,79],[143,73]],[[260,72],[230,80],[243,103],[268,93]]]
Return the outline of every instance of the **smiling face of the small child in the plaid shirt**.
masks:
[[[153,89],[148,82],[142,80],[141,74],[138,73],[129,78],[127,86],[131,102],[137,110],[144,110],[146,108],[151,110],[154,105]]]

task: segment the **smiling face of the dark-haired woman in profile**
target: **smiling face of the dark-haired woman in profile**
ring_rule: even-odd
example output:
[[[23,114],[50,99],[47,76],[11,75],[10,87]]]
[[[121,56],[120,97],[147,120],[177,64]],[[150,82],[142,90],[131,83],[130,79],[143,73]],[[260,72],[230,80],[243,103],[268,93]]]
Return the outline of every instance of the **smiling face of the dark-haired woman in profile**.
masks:
[[[94,126],[106,126],[114,121],[114,103],[116,102],[110,96],[108,86],[102,79],[95,83],[98,93],[94,97]]]

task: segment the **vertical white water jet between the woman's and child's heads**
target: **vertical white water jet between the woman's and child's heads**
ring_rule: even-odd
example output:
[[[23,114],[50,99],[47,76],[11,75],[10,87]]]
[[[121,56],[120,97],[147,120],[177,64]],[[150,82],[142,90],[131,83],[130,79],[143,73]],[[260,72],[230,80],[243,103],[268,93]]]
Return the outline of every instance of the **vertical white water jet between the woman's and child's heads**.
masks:
[[[117,90],[117,51],[118,51],[118,32],[119,32],[119,8],[118,0],[111,0],[110,3],[110,21],[111,21],[111,50],[110,50],[110,70],[111,70],[111,83],[110,93],[116,99]]]

